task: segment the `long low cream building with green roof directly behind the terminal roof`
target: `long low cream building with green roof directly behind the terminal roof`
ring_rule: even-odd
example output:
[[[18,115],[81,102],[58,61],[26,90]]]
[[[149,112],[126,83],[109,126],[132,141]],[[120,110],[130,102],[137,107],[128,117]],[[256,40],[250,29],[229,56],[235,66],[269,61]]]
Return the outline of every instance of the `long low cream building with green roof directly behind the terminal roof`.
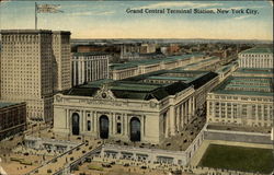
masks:
[[[122,80],[158,70],[170,70],[185,67],[207,59],[212,59],[212,57],[205,57],[203,54],[192,54],[115,63],[110,67],[110,79]]]

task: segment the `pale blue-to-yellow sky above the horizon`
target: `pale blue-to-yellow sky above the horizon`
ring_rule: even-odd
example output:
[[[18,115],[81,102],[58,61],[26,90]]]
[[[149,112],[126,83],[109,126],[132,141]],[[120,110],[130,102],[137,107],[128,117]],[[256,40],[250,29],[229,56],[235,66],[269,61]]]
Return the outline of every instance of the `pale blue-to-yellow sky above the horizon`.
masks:
[[[62,13],[38,13],[38,28],[70,31],[72,38],[273,39],[270,1],[38,1]],[[0,30],[35,27],[35,1],[1,1]],[[127,13],[127,9],[217,9],[228,14]],[[231,9],[243,13],[233,14]],[[247,14],[247,9],[258,14]]]

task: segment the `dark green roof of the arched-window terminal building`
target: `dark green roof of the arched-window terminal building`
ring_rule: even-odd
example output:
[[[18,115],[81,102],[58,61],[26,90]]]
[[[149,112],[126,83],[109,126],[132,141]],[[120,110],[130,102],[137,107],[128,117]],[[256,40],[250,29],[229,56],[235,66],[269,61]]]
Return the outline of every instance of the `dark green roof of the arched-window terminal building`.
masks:
[[[149,101],[156,98],[158,101],[174,95],[190,86],[198,89],[218,74],[206,71],[183,71],[183,70],[161,70],[133,77],[125,80],[98,80],[82,85],[75,86],[66,91],[65,95],[77,96],[94,96],[96,91],[106,86],[117,98],[132,98]],[[172,80],[173,82],[144,82],[147,79]]]

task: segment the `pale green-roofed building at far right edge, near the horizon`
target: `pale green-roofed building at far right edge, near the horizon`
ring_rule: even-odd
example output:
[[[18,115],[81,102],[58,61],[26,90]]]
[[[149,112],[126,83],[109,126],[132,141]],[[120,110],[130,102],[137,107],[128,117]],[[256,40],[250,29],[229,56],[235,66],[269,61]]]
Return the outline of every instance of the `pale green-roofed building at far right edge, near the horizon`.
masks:
[[[241,51],[239,55],[240,68],[273,68],[273,48],[254,47]]]

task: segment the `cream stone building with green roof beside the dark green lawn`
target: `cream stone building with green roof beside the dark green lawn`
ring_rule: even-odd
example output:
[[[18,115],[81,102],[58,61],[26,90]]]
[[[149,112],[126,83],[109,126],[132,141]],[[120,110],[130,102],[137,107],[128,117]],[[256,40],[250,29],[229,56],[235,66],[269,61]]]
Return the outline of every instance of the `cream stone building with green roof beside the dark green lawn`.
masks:
[[[207,95],[207,121],[273,126],[273,79],[229,77]]]

